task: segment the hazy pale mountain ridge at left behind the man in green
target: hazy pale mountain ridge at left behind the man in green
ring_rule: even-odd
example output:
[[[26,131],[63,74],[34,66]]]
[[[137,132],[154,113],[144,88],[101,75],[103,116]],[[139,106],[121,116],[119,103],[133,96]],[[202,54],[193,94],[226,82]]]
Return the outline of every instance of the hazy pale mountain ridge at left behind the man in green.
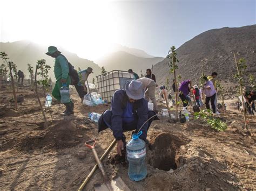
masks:
[[[100,67],[93,61],[79,58],[75,53],[66,51],[62,47],[57,47],[60,52],[69,60],[69,62],[78,69],[86,69],[87,67],[93,68],[94,74],[89,76],[89,81],[92,82],[92,78],[100,75]],[[55,79],[53,74],[54,58],[46,55],[48,46],[39,45],[28,40],[19,40],[12,43],[0,43],[0,51],[8,54],[10,61],[13,61],[17,65],[17,69],[21,69],[26,76],[29,76],[27,70],[27,64],[30,63],[35,69],[36,62],[41,59],[45,59],[46,64],[51,66],[49,76]]]

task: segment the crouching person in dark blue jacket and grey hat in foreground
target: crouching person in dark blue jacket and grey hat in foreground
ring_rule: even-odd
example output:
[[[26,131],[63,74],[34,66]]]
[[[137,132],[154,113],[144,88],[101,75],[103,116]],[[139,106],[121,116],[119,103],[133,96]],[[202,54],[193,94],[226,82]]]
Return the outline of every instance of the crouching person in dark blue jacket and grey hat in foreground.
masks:
[[[150,110],[147,106],[147,100],[144,98],[143,83],[132,80],[126,83],[126,88],[117,90],[111,100],[111,109],[106,110],[99,118],[98,130],[103,131],[110,128],[113,136],[117,140],[117,153],[122,155],[121,151],[125,147],[125,131],[135,130],[138,133],[140,127],[151,118],[142,127],[140,139],[146,142],[147,131],[153,120],[159,120],[156,112]]]

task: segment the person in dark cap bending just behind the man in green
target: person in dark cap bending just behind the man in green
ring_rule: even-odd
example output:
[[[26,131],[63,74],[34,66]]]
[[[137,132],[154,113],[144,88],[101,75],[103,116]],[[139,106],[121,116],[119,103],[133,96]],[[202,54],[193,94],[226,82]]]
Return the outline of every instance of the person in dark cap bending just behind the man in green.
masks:
[[[77,73],[79,76],[79,82],[78,84],[75,84],[75,88],[83,103],[84,96],[87,94],[87,88],[85,86],[85,82],[87,81],[89,75],[93,72],[92,72],[92,68],[88,67],[87,69],[80,70]]]

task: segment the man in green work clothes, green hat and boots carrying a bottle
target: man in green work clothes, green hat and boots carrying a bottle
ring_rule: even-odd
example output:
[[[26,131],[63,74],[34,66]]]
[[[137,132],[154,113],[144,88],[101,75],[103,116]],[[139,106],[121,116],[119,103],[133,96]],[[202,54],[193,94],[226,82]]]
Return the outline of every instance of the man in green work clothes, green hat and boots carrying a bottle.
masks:
[[[60,88],[63,86],[63,83],[66,83],[66,87],[69,87],[71,79],[69,76],[69,63],[64,55],[60,54],[61,52],[55,46],[49,46],[47,55],[55,58],[54,65],[54,75],[56,78],[55,87],[52,90],[52,96],[56,98],[56,100],[60,101]],[[66,106],[66,110],[60,114],[62,116],[71,115],[74,113],[74,104],[70,100],[70,103],[64,103]]]

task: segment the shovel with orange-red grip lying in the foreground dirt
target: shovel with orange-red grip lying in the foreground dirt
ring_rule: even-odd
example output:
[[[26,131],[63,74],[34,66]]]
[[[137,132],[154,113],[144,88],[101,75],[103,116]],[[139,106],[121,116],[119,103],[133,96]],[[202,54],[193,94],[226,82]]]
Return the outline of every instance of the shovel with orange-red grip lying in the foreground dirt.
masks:
[[[90,145],[90,144],[92,144],[92,145]],[[104,171],[104,168],[103,168],[103,164],[99,160],[98,154],[95,150],[95,144],[96,144],[95,139],[88,140],[87,142],[85,142],[85,146],[91,148],[92,153],[93,153],[93,155],[95,157],[95,160],[97,162],[97,165],[100,169],[100,172],[102,172],[103,180],[104,180],[103,185],[96,184],[94,186],[94,189],[96,191],[103,191],[103,190],[104,191],[106,191],[106,190],[110,190],[110,191],[117,191],[117,190],[125,190],[126,191],[127,190],[127,191],[130,191],[130,189],[127,187],[127,185],[124,183],[124,181],[119,176],[114,177],[113,180],[110,180],[109,177],[107,177],[107,175]]]

